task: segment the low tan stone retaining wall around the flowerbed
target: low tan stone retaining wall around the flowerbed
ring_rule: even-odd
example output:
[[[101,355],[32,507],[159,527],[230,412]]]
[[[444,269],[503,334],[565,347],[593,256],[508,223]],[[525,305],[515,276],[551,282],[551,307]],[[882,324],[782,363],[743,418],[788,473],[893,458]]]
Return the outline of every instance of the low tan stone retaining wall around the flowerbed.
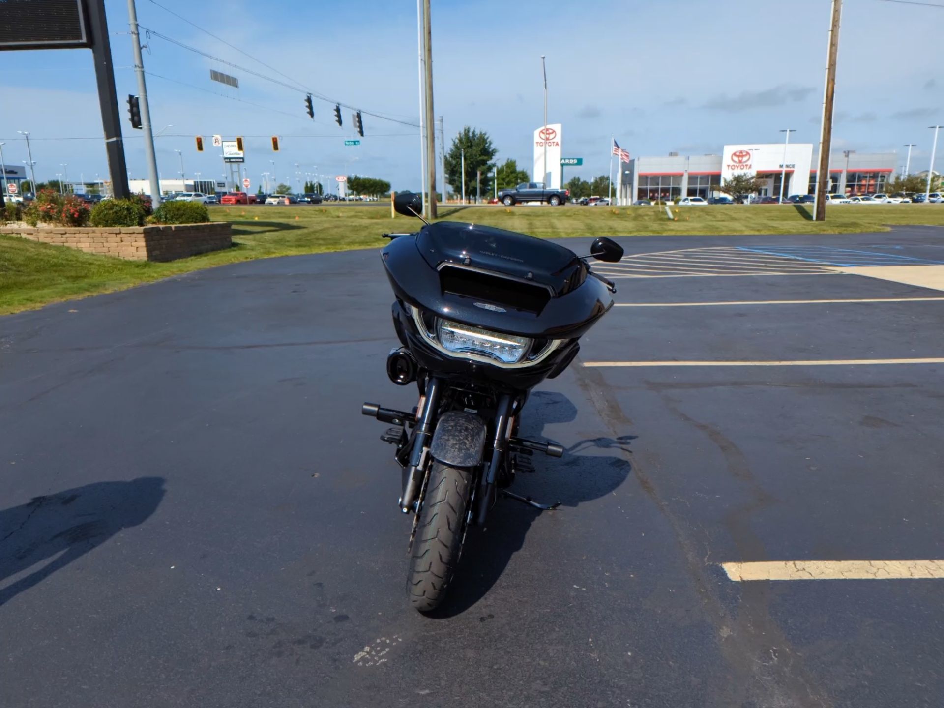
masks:
[[[232,245],[228,222],[163,227],[0,227],[0,233],[132,261],[176,261]]]

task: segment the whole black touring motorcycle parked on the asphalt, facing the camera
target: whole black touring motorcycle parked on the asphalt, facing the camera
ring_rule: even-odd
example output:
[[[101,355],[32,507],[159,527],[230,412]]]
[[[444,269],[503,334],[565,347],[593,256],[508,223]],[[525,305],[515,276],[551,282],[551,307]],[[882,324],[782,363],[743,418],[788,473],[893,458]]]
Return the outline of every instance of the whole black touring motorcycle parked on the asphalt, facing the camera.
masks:
[[[394,206],[422,218],[419,194],[397,194]],[[407,595],[430,612],[446,595],[465,531],[484,523],[499,490],[538,509],[558,506],[507,489],[516,472],[531,471],[535,451],[564,454],[518,437],[521,410],[613,307],[614,283],[584,259],[619,261],[623,249],[600,238],[579,258],[522,233],[451,221],[384,235],[403,345],[387,357],[387,375],[400,386],[416,381],[419,402],[411,413],[364,403],[362,413],[394,426],[380,438],[396,446],[400,511],[414,514]]]

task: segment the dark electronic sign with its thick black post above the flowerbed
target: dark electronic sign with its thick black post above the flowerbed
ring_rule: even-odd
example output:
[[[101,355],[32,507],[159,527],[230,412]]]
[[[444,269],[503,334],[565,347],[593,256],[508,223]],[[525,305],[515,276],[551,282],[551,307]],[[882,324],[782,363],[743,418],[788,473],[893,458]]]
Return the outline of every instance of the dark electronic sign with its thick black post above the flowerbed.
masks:
[[[105,0],[0,0],[0,50],[92,49],[114,196],[129,196]]]

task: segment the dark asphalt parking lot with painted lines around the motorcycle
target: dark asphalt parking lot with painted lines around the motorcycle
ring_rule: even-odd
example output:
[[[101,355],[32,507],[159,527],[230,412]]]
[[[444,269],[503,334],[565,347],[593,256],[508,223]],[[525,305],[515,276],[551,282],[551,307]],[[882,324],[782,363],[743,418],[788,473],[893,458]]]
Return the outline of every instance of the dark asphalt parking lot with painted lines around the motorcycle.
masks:
[[[941,705],[944,229],[622,243],[432,617],[376,251],[0,318],[0,705]]]

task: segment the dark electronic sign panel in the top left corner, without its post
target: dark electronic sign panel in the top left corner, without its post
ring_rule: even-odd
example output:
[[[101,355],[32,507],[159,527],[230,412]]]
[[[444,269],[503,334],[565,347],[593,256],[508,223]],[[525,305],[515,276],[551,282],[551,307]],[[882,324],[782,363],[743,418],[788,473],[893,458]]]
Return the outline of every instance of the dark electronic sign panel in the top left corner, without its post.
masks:
[[[88,46],[84,0],[0,0],[0,49]]]

